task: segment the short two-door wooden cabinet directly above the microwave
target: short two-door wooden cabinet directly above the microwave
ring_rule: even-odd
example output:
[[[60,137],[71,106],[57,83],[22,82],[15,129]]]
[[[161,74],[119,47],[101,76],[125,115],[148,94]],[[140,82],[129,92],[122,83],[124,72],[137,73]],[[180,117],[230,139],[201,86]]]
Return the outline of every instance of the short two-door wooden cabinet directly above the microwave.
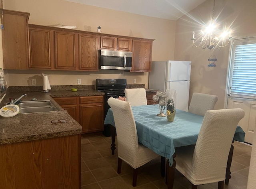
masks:
[[[132,39],[101,36],[100,47],[101,49],[111,49],[111,50],[131,52]]]

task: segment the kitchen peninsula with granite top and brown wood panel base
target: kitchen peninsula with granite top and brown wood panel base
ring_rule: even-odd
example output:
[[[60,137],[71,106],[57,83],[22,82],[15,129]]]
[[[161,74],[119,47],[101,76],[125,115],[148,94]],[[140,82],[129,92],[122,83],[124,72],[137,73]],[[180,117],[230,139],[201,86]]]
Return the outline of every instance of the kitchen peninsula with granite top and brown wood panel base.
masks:
[[[93,89],[49,93],[8,89],[0,108],[9,98],[18,99],[26,94],[21,101],[51,100],[58,111],[17,114],[11,118],[0,116],[0,162],[3,162],[0,182],[3,188],[15,185],[19,189],[35,186],[80,189],[82,126],[54,98],[94,98],[104,93]]]

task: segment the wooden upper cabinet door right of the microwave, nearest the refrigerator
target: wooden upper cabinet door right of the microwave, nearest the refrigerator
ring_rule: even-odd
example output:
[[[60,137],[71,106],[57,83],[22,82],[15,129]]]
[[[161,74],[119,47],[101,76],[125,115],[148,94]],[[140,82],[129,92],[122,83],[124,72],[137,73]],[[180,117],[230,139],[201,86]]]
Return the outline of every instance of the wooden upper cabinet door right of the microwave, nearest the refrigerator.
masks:
[[[150,72],[152,59],[152,41],[132,42],[132,70],[133,72]]]

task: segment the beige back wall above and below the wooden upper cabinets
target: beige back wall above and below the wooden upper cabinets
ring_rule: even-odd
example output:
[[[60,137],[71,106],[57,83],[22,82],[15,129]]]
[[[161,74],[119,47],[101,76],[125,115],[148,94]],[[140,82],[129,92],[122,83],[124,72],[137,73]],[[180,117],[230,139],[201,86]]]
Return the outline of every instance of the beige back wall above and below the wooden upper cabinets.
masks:
[[[86,6],[63,0],[8,0],[3,2],[4,9],[30,12],[29,24],[78,26],[79,30],[96,32],[101,26],[102,33],[155,39],[152,60],[160,61],[174,58],[175,21],[130,14],[94,6]],[[2,47],[2,45],[1,45]],[[40,73],[50,74],[51,85],[92,85],[97,78],[127,78],[132,84],[148,87],[148,73],[127,73],[124,71],[5,71],[9,86],[31,85],[30,79],[36,78],[42,85]]]

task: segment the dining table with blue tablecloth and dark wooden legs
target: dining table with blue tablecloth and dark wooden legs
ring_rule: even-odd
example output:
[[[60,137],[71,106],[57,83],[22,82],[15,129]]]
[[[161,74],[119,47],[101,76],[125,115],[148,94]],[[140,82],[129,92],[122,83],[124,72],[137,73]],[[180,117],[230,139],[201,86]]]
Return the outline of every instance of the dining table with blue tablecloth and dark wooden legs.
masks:
[[[168,189],[172,189],[176,165],[175,148],[196,144],[204,116],[176,109],[174,121],[168,122],[166,117],[157,116],[160,112],[158,104],[132,106],[132,112],[137,129],[138,142],[150,148],[162,158],[167,159],[166,182],[168,184]],[[106,114],[104,124],[111,125],[111,150],[112,154],[114,154],[116,130],[111,108],[109,108]],[[233,142],[234,140],[244,142],[244,136],[245,132],[240,126],[237,126]],[[227,162],[225,184],[228,184],[228,181],[231,178],[230,166],[233,149],[234,147],[231,145]]]

